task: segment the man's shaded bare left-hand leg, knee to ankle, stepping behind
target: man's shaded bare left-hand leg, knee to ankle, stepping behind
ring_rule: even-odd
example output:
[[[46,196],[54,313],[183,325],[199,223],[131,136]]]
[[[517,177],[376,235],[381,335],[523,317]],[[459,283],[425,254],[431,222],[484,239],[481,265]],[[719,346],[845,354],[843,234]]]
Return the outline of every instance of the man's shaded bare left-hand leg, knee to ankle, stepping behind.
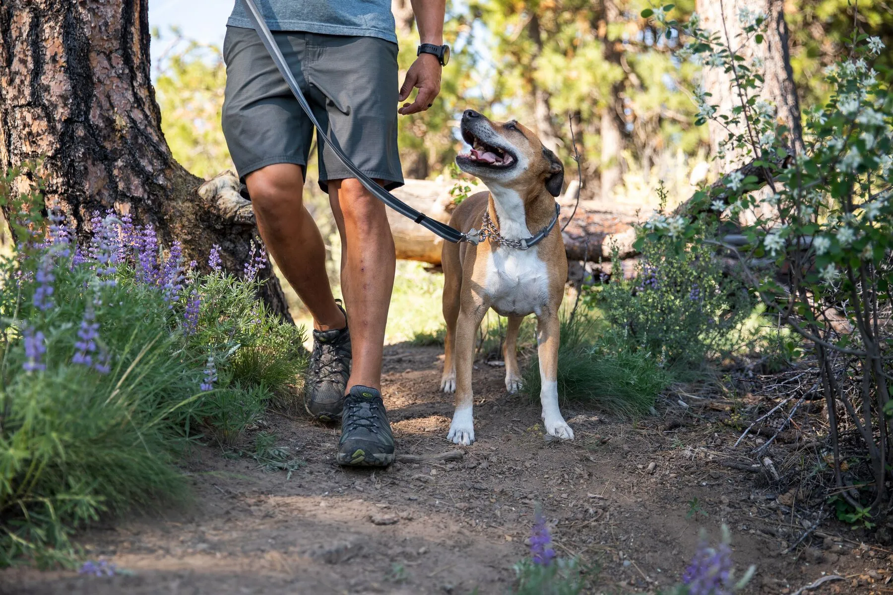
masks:
[[[313,327],[319,331],[344,328],[346,320],[335,303],[326,274],[325,244],[304,207],[301,167],[292,163],[268,165],[248,174],[245,183],[263,243],[313,315]]]

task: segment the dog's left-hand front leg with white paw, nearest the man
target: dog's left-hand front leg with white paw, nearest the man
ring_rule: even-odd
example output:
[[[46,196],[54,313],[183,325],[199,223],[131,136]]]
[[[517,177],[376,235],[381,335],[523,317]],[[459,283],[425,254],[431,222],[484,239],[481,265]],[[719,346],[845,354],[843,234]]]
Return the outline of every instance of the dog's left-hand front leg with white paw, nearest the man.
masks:
[[[474,442],[474,395],[472,394],[472,369],[474,368],[474,334],[478,330],[483,312],[487,308],[459,310],[455,326],[453,358],[455,360],[455,412],[449,426],[447,440],[468,445]]]

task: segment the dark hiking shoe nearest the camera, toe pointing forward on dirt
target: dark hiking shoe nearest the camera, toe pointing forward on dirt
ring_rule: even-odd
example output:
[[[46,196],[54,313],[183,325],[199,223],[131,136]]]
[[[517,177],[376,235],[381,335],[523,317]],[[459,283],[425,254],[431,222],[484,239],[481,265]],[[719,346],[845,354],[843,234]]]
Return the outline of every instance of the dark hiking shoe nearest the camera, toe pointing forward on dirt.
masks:
[[[346,396],[335,459],[340,465],[372,467],[387,467],[394,462],[394,434],[381,393],[374,388],[356,385]]]

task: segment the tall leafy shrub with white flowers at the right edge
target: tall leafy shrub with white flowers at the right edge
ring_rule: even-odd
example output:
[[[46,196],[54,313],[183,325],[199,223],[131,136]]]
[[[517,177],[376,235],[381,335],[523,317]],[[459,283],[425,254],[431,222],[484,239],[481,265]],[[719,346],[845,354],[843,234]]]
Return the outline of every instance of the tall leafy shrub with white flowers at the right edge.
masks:
[[[714,120],[728,131],[717,158],[747,155],[741,159],[749,163],[728,167],[722,183],[696,193],[683,212],[673,213],[686,216],[685,230],[674,226],[671,235],[664,224],[643,231],[649,241],[700,241],[736,260],[737,274],[767,310],[814,347],[822,390],[830,403],[839,403],[829,407],[837,412],[829,418],[831,436],[836,441],[840,420],[846,419],[863,447],[864,462],[847,471],[850,485],[864,486],[857,497],[852,488],[843,489],[839,460],[834,461],[840,498],[877,515],[890,498],[885,458],[893,451],[893,95],[873,64],[884,44],[857,33],[847,52],[824,70],[830,100],[804,106],[805,150],[795,153],[800,144],[792,142],[793,132],[761,95],[764,72],[755,63],[738,66],[747,63],[738,48],[764,42],[764,15],[742,8],[736,16],[743,31],[735,39],[669,14],[662,25],[689,37],[690,56],[710,56],[705,68],[730,73],[732,108],[721,110],[710,95],[693,91],[695,123]],[[718,66],[715,56],[721,58]],[[768,191],[755,192],[764,186]],[[746,211],[753,216],[739,217]],[[739,228],[747,245],[726,244],[709,232],[730,227]]]

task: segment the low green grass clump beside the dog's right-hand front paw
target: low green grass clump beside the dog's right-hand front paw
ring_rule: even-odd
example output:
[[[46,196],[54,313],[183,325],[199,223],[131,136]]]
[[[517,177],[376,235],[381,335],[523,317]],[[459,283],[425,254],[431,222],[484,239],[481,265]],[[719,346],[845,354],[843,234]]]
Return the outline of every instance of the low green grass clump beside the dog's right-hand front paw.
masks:
[[[534,356],[522,373],[522,393],[539,398],[539,362]],[[606,413],[640,415],[672,383],[672,374],[655,357],[634,350],[610,327],[599,327],[592,313],[562,316],[558,348],[558,396]]]

